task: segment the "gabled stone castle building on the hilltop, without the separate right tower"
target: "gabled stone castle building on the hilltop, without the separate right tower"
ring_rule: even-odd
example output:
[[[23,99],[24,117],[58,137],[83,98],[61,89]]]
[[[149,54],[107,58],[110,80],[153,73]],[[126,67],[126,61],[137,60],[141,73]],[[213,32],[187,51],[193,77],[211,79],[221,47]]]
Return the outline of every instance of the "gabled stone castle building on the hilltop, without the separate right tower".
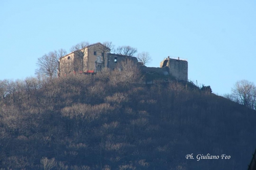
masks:
[[[104,67],[114,70],[122,61],[130,59],[138,63],[136,57],[111,54],[110,48],[100,42],[88,45],[59,59],[60,75],[71,72],[98,72]]]

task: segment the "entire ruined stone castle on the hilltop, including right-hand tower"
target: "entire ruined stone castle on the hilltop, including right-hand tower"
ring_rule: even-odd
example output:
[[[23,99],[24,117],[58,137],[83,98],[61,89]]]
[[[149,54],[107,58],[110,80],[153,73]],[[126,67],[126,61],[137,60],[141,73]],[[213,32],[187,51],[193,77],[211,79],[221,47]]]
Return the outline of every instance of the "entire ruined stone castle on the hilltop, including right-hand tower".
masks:
[[[98,42],[63,56],[59,59],[59,75],[67,75],[71,72],[98,72],[102,68],[109,68],[110,70],[122,69],[121,63],[129,59],[140,66],[142,72],[170,75],[178,80],[187,81],[188,64],[186,60],[168,57],[160,63],[160,67],[146,67],[142,66],[136,57],[111,54],[110,51],[110,48]]]

